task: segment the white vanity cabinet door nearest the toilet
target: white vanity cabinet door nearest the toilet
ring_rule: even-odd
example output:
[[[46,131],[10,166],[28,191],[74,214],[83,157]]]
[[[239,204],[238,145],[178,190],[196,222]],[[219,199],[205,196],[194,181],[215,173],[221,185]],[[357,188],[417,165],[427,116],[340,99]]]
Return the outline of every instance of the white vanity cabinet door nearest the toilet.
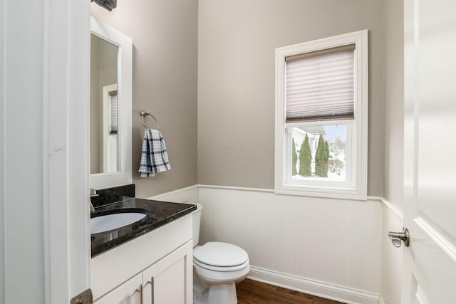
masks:
[[[142,272],[144,303],[192,304],[192,244],[185,243]]]

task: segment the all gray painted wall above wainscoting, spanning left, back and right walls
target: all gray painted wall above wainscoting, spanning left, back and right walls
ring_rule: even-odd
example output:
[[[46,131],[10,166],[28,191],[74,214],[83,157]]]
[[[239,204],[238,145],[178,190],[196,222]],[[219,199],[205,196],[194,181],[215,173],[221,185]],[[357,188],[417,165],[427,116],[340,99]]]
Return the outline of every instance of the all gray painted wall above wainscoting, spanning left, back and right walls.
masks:
[[[368,194],[400,201],[402,29],[395,31],[390,19],[402,10],[395,4],[383,21],[383,2],[199,0],[198,9],[197,0],[140,0],[119,1],[112,12],[92,4],[95,18],[133,38],[138,196],[197,182],[274,188],[275,48],[368,28]],[[147,179],[137,174],[140,110],[160,122],[172,165],[170,172]]]

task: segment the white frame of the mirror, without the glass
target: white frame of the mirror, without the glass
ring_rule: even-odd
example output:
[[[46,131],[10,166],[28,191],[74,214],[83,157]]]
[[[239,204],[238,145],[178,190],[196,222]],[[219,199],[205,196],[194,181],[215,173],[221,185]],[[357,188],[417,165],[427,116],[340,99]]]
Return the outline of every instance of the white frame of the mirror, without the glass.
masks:
[[[133,181],[131,160],[133,41],[132,38],[93,17],[90,17],[90,31],[93,35],[118,46],[118,172],[90,174],[90,188],[105,189],[132,184]]]

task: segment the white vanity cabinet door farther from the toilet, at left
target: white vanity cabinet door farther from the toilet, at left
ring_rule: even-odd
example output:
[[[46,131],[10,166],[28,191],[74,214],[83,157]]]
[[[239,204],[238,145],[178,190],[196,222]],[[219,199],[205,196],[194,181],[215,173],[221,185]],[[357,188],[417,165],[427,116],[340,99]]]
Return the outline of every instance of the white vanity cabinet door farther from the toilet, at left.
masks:
[[[95,300],[93,304],[140,304],[140,285],[142,283],[142,274],[130,278],[122,285],[114,288],[103,297]]]

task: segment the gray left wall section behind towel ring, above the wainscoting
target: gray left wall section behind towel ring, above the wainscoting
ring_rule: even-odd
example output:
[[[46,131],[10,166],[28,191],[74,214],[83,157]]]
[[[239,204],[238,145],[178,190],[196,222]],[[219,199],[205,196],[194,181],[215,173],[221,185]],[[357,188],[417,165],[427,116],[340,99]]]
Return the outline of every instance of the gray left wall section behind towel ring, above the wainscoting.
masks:
[[[197,0],[118,1],[92,16],[133,38],[133,183],[138,197],[197,183]],[[139,112],[160,123],[171,170],[139,177],[144,127]],[[153,120],[147,120],[151,127]]]

